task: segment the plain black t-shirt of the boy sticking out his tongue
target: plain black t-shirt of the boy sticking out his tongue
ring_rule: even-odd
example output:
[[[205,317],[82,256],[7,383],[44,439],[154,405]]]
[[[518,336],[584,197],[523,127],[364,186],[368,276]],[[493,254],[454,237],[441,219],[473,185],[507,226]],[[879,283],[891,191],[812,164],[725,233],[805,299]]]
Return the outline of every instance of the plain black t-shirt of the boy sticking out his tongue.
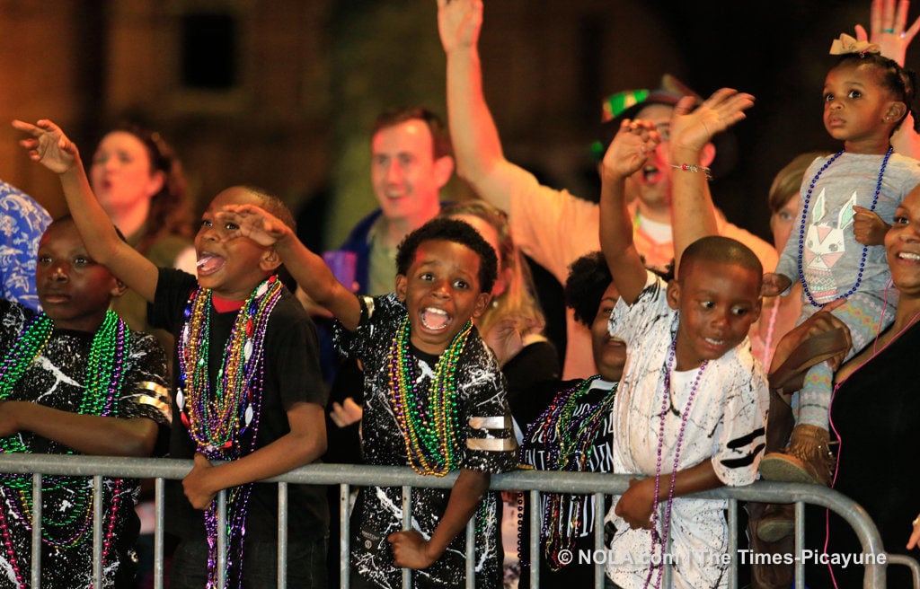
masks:
[[[171,268],[160,268],[155,300],[148,311],[150,323],[168,329],[177,339],[185,323],[190,294],[198,288],[195,277]],[[224,345],[236,320],[236,311],[217,312],[213,305],[208,338],[208,375],[213,391],[214,375],[221,368]],[[287,289],[271,311],[265,334],[264,384],[258,438],[255,447],[265,447],[290,432],[287,409],[295,402],[326,406],[327,394],[319,370],[316,327],[304,308]],[[178,388],[178,347],[174,351],[174,388]],[[175,459],[190,459],[195,443],[179,419],[173,400],[172,436],[169,449]],[[167,530],[180,538],[204,538],[203,512],[193,509],[182,493],[181,481],[167,481]],[[288,487],[288,538],[320,538],[328,529],[326,491],[316,485]],[[275,541],[278,538],[278,486],[257,483],[247,504],[246,538]]]

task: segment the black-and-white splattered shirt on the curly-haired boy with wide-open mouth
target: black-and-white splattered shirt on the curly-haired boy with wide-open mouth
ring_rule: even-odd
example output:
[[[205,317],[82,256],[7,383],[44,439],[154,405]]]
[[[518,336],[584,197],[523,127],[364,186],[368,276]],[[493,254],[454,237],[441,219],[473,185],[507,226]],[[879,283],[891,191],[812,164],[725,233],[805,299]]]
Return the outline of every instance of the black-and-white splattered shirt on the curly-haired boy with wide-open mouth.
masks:
[[[336,329],[339,351],[361,360],[364,369],[362,453],[365,463],[407,466],[402,429],[390,402],[389,350],[407,315],[406,306],[393,294],[362,298],[362,320],[353,334]],[[428,391],[437,357],[412,348],[414,383]],[[474,328],[457,360],[456,410],[460,425],[460,468],[499,473],[516,468],[517,442],[505,399],[504,381],[495,356]],[[422,411],[430,407],[422,401]],[[449,490],[412,490],[412,527],[424,538],[441,520]],[[489,493],[477,510],[477,587],[500,585],[502,553],[497,493]],[[358,493],[351,517],[351,570],[380,587],[401,586],[401,569],[393,567],[393,552],[386,538],[402,528],[402,490],[398,487],[365,487]],[[413,571],[414,587],[462,587],[466,566],[466,535],[458,534],[440,560],[427,569]]]

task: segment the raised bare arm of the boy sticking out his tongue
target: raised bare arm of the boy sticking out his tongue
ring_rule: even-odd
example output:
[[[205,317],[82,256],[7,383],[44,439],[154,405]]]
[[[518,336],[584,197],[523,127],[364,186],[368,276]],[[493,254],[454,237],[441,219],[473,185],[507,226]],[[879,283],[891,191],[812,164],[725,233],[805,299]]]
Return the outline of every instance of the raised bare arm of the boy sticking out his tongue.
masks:
[[[80,153],[74,142],[67,139],[63,130],[52,121],[42,119],[32,125],[14,120],[13,127],[29,139],[19,142],[29,151],[29,157],[39,162],[61,178],[63,196],[76,223],[76,229],[83,236],[86,251],[99,264],[121,280],[128,288],[136,290],[144,300],[154,300],[156,292],[156,266],[121,240],[115,226],[99,204],[80,160]]]

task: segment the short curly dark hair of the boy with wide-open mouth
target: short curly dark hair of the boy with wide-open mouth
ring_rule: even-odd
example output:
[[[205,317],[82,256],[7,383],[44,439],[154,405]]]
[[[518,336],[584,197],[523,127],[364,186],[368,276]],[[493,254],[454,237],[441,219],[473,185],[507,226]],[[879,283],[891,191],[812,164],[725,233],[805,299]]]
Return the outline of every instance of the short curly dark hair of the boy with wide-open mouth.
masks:
[[[472,225],[456,219],[435,217],[419,229],[409,233],[397,250],[397,273],[408,274],[419,246],[425,242],[443,240],[466,245],[479,256],[479,290],[491,292],[498,276],[498,258],[492,246],[479,235]]]

